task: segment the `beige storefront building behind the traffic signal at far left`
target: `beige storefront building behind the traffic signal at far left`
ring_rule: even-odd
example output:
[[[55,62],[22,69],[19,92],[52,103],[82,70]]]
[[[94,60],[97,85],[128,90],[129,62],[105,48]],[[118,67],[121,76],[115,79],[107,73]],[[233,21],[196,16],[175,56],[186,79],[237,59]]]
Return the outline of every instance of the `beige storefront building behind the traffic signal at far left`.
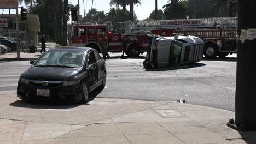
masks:
[[[2,25],[1,25],[2,22]],[[38,15],[27,15],[26,21],[21,21],[19,15],[20,43],[23,47],[28,45],[38,45],[38,32],[40,32],[40,22]],[[0,36],[8,37],[16,41],[16,15],[0,15]]]

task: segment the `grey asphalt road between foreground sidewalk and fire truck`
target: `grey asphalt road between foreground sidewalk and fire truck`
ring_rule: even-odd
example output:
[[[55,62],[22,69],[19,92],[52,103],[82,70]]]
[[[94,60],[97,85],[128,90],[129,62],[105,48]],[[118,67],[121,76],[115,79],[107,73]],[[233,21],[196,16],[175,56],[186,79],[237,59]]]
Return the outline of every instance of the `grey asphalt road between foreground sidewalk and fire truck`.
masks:
[[[97,97],[149,101],[177,101],[235,110],[236,55],[174,68],[145,70],[144,57],[121,59],[111,53],[106,88]],[[1,94],[16,93],[16,85],[29,61],[0,63]]]

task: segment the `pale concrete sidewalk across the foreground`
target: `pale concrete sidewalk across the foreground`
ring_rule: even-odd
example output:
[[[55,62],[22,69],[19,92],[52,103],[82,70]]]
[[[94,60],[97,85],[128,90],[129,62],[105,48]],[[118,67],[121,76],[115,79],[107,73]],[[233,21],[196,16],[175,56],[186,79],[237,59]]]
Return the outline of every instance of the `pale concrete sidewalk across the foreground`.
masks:
[[[5,144],[256,143],[256,131],[226,126],[234,112],[210,107],[95,98],[87,105],[43,109],[19,101],[10,104],[9,95],[2,96],[8,104],[0,109],[0,143]]]

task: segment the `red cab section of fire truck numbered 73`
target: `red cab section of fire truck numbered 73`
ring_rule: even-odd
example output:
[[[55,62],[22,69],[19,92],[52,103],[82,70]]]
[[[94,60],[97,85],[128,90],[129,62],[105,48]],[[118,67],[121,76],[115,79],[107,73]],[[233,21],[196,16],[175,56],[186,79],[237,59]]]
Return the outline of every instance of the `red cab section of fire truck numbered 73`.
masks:
[[[159,34],[165,31],[167,35],[173,33],[173,29],[154,29],[154,34]],[[149,41],[147,34],[121,34],[112,33],[108,31],[107,25],[74,25],[71,30],[69,39],[69,46],[86,46],[96,49],[101,52],[100,41],[102,39],[102,33],[107,34],[108,38],[108,51],[109,52],[121,52],[122,36],[128,39],[126,47],[126,55],[130,57],[137,57],[140,53],[147,51]]]

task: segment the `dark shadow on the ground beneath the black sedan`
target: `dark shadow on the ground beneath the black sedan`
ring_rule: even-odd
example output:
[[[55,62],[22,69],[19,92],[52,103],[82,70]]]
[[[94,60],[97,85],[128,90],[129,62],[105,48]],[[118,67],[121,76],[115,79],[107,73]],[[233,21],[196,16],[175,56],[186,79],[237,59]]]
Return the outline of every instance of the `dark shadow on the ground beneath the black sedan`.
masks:
[[[94,100],[98,94],[103,91],[101,88],[96,88],[89,93],[89,101]],[[53,100],[49,98],[38,98],[33,100],[16,100],[10,106],[24,107],[30,109],[72,109],[83,104],[79,104],[77,100]],[[85,104],[89,105],[89,104]]]

